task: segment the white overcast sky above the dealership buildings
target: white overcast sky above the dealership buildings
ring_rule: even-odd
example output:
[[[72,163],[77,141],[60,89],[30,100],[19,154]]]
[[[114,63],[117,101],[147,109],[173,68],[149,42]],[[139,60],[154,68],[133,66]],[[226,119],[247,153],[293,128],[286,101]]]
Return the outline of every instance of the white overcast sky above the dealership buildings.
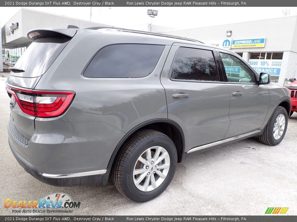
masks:
[[[90,7],[24,7],[42,12],[90,20]],[[148,9],[158,10],[153,25],[189,29],[282,17],[283,10],[297,14],[297,7],[92,7],[92,22],[129,28],[150,23]],[[1,27],[20,7],[0,7]],[[273,27],[272,27],[273,28]],[[276,30],[277,31],[277,30]]]

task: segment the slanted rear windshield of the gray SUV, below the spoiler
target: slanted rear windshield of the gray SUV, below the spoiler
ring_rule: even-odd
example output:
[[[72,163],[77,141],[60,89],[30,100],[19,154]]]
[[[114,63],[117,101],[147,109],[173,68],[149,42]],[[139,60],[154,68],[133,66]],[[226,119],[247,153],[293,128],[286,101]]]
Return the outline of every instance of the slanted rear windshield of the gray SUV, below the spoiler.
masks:
[[[12,72],[12,76],[37,77],[43,75],[57,59],[71,38],[47,37],[36,39],[16,62],[14,68],[25,72]]]

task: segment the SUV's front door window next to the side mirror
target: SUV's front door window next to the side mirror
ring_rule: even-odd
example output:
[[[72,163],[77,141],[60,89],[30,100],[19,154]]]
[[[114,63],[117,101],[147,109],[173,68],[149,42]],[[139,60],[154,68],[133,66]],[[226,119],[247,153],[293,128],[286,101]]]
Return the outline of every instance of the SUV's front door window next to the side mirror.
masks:
[[[246,64],[237,57],[221,53],[228,82],[256,83],[255,75]]]

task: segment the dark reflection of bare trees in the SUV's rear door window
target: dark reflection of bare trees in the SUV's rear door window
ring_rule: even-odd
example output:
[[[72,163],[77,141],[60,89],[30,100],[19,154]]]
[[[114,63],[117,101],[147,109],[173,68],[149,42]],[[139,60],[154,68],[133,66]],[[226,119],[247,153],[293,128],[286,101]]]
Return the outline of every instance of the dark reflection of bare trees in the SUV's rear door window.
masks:
[[[211,52],[210,52],[211,53]],[[218,81],[217,66],[212,57],[186,57],[174,62],[174,78],[184,80]]]

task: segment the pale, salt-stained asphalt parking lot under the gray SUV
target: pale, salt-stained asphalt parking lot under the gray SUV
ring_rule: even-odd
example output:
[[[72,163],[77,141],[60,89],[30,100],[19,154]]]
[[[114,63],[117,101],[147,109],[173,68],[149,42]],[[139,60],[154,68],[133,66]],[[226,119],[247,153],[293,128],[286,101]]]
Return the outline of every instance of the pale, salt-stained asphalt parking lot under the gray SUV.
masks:
[[[17,215],[4,208],[6,198],[36,200],[58,192],[81,202],[70,215],[264,215],[268,207],[288,207],[287,215],[297,215],[296,113],[278,146],[249,138],[188,158],[178,164],[163,194],[134,203],[111,182],[106,187],[53,187],[24,171],[7,142],[10,98],[5,80],[0,77],[0,215]]]

